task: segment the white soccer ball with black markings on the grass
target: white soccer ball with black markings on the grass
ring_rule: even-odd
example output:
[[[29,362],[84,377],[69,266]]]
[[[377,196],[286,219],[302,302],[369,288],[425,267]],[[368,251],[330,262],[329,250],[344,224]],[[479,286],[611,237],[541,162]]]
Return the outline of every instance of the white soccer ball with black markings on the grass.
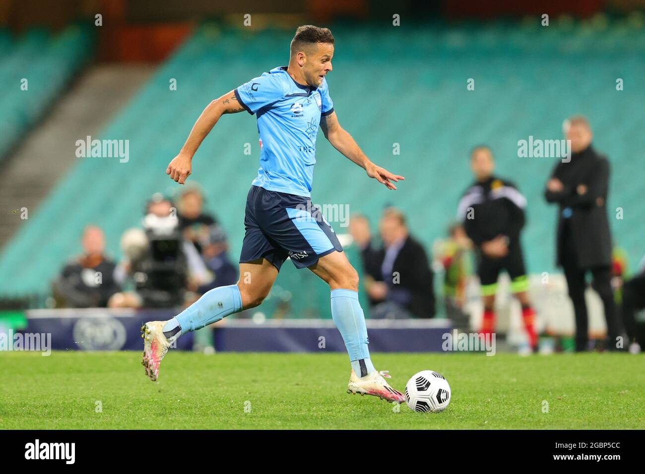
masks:
[[[405,401],[410,410],[439,413],[450,403],[446,377],[432,370],[415,373],[405,386]]]

